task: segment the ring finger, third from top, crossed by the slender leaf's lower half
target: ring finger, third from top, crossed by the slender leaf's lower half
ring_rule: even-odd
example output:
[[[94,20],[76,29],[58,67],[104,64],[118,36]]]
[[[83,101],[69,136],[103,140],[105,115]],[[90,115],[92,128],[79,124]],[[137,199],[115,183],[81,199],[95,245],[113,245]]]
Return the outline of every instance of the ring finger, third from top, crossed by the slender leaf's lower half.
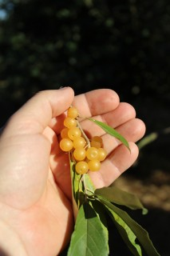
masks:
[[[144,136],[145,125],[138,118],[134,118],[117,127],[117,132],[121,134],[128,142],[137,142]],[[109,134],[104,134],[102,137],[104,148],[108,154],[121,145],[121,141]]]

